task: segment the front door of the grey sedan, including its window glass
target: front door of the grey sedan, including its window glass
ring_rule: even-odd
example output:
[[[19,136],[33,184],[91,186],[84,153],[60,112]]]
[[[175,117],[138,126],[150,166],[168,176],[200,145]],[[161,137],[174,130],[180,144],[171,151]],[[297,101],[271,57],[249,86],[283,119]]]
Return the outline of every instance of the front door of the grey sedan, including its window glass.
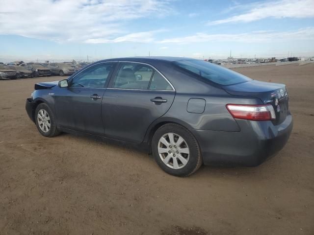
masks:
[[[115,63],[99,63],[55,92],[55,110],[60,127],[104,135],[102,99]]]

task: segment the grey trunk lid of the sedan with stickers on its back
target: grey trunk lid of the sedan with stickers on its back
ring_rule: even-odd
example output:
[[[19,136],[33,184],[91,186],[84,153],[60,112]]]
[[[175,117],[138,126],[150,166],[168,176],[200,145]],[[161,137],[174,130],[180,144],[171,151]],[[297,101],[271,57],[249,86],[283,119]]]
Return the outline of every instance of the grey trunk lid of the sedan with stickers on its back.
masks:
[[[232,95],[257,97],[264,104],[271,104],[276,113],[276,120],[272,121],[274,125],[282,123],[288,115],[289,96],[285,84],[252,80],[223,89]]]

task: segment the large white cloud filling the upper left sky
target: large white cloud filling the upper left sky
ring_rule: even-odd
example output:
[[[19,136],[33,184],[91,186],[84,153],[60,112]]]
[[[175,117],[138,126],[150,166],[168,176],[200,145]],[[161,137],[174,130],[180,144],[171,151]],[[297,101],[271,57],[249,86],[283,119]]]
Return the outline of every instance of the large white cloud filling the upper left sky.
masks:
[[[151,32],[130,33],[130,21],[171,10],[168,0],[0,0],[0,34],[55,42],[150,42]]]

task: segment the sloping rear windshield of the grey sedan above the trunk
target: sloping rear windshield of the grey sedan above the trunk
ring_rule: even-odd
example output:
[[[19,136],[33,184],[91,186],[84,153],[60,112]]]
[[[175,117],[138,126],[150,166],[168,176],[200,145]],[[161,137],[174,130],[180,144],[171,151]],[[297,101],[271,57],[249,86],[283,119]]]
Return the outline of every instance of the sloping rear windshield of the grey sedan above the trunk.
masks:
[[[211,82],[222,86],[251,81],[252,79],[237,72],[213,65],[203,60],[180,60],[174,62],[186,71],[195,73]]]

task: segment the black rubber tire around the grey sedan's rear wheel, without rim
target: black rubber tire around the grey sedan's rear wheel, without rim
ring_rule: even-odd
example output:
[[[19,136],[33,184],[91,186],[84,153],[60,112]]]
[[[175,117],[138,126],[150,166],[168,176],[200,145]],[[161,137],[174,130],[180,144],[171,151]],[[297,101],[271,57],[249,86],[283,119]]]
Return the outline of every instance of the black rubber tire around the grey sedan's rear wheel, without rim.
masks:
[[[163,137],[167,133],[175,133],[179,136],[181,136],[189,148],[189,160],[185,166],[179,169],[174,169],[166,164],[163,163],[161,160],[159,153],[158,153],[158,142],[161,137]],[[174,176],[188,176],[190,174],[193,174],[195,171],[197,171],[200,166],[203,164],[203,159],[201,155],[200,146],[193,136],[193,134],[184,128],[181,125],[175,124],[175,123],[168,123],[165,124],[157,129],[153,136],[152,140],[152,152],[153,156],[155,158],[155,161],[160,166],[161,169],[163,169],[168,174],[174,175]],[[172,153],[171,153],[172,154]],[[170,160],[171,161],[171,160]]]

